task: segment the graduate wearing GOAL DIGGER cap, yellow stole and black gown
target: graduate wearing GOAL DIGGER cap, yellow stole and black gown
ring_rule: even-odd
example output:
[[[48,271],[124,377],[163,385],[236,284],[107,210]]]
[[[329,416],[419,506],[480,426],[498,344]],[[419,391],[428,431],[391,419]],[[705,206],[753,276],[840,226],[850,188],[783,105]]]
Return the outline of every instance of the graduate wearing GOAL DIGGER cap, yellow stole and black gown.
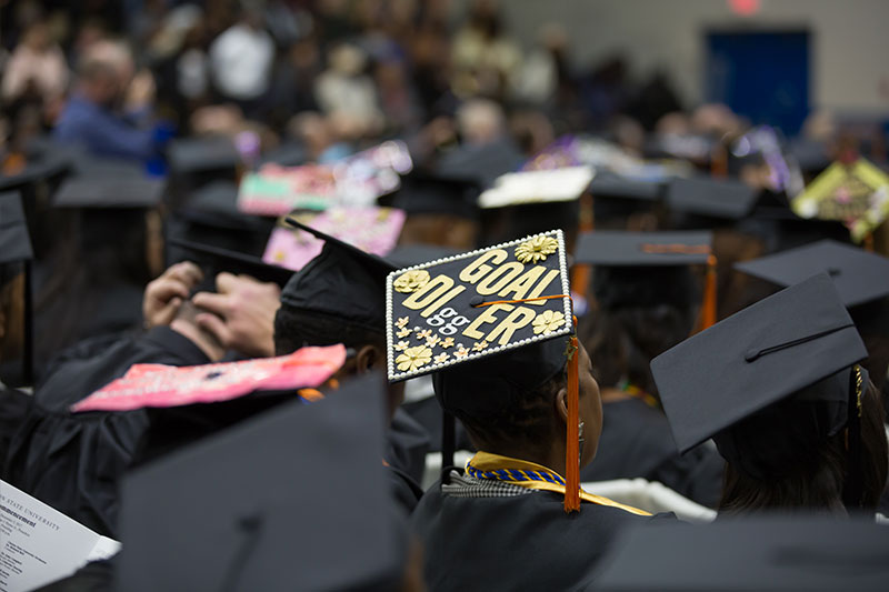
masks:
[[[397,272],[388,294],[389,380],[432,372],[479,450],[413,513],[428,585],[577,586],[616,531],[648,514],[579,486],[601,400],[572,334],[561,231]]]

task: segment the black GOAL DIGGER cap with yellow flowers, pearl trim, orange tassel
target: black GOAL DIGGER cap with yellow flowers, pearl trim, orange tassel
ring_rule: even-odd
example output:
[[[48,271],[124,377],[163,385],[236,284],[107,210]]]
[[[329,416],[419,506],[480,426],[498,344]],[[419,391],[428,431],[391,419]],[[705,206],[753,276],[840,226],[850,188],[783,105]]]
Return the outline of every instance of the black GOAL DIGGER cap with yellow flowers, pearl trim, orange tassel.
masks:
[[[457,417],[516,405],[568,374],[566,511],[579,502],[578,354],[560,230],[393,271],[387,279],[392,382],[433,373]]]

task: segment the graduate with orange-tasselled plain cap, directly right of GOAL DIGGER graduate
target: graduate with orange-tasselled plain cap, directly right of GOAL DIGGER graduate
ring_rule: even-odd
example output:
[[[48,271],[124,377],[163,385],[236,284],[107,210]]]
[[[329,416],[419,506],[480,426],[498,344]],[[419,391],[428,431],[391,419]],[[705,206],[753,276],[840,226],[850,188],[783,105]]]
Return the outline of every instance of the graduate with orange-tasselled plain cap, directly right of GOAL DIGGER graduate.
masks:
[[[596,265],[596,305],[579,333],[595,360],[603,413],[601,452],[581,471],[583,482],[642,478],[710,508],[719,502],[722,459],[707,445],[679,454],[649,370],[695,329],[699,290],[690,265],[707,264],[710,243],[702,231],[581,235],[576,261]],[[701,312],[715,304],[706,292]]]

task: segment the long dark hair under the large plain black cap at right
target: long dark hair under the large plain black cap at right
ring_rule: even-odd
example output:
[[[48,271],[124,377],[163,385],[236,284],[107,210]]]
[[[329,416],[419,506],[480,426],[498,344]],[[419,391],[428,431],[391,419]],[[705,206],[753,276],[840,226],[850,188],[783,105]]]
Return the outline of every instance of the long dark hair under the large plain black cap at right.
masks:
[[[746,513],[769,510],[842,512],[842,488],[846,481],[846,430],[825,439],[808,421],[788,421],[799,415],[800,405],[817,405],[791,399],[772,405],[776,413],[757,414],[735,430],[749,441],[759,434],[780,434],[781,448],[792,462],[781,463],[780,474],[755,476],[739,463],[726,464],[720,513]],[[770,408],[770,409],[772,409]],[[872,383],[861,397],[861,473],[860,509],[872,512],[886,485],[889,470],[882,402]],[[761,438],[760,438],[761,440]],[[789,459],[789,456],[786,456]]]

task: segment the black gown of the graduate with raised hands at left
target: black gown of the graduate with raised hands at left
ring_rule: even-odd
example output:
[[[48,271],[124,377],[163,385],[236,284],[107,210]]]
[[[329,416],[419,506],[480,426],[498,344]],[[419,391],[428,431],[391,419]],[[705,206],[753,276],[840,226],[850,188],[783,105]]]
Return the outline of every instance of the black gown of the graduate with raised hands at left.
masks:
[[[197,345],[167,327],[73,348],[38,389],[12,437],[6,463],[9,482],[87,528],[116,538],[118,479],[148,425],[146,412],[70,413],[68,408],[136,363],[208,362]]]

